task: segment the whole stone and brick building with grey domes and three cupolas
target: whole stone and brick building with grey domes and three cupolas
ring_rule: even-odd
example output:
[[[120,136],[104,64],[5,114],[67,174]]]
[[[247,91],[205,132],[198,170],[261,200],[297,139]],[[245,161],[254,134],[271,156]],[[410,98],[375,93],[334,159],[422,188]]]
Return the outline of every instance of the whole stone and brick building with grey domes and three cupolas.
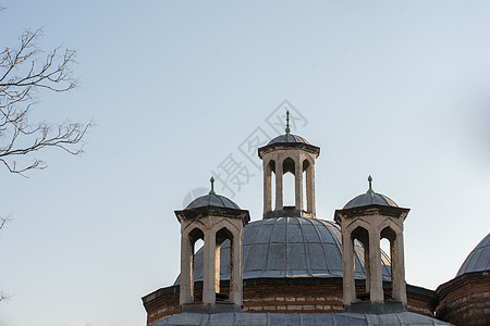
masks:
[[[315,210],[319,153],[292,135],[289,124],[284,135],[258,150],[259,221],[249,223],[248,211],[212,187],[176,211],[181,275],[143,298],[147,324],[450,325],[434,318],[437,311],[437,317],[456,325],[489,325],[468,322],[475,315],[489,321],[489,237],[468,256],[479,262],[483,250],[486,266],[465,262],[461,275],[437,291],[405,284],[403,222],[409,210],[375,192],[369,176],[367,192],[336,210],[334,221],[320,218]],[[292,190],[283,189],[285,173],[295,180],[291,206],[283,204],[284,191]],[[383,238],[391,260],[380,249]],[[204,246],[194,253],[198,239]]]

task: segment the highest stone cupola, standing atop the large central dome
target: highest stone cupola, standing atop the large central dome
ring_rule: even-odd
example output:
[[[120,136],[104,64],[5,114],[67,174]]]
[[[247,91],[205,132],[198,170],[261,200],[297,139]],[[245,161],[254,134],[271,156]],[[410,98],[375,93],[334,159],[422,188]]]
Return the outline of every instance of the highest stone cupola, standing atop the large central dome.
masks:
[[[310,145],[303,137],[291,134],[287,111],[285,134],[273,138],[268,145],[258,149],[264,166],[264,218],[315,217],[315,160],[319,154],[319,147]],[[272,173],[275,177],[274,185],[272,185]],[[284,191],[291,191],[283,187],[283,177],[286,173],[294,176],[293,206],[284,205]],[[306,179],[305,185],[304,179]],[[274,206],[272,206],[272,190],[275,193]],[[304,196],[306,196],[306,204],[304,204]]]

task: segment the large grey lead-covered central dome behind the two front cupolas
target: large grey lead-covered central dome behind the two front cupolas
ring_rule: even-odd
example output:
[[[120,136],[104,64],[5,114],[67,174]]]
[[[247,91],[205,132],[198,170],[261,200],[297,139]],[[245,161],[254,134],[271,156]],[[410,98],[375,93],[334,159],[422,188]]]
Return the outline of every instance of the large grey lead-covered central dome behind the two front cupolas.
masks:
[[[195,280],[203,280],[203,248],[194,262]],[[221,247],[221,279],[230,278],[230,242]],[[390,259],[383,252],[383,278],[390,279]],[[355,243],[355,277],[366,278],[364,248]],[[277,217],[255,221],[244,227],[243,278],[342,277],[342,236],[332,221]],[[180,284],[180,278],[175,280]]]

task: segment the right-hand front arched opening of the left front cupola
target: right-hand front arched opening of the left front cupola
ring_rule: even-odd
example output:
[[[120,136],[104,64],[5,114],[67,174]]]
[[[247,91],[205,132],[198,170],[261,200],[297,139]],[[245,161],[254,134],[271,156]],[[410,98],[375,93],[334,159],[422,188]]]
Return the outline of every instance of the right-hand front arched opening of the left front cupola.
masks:
[[[224,248],[223,242],[229,241],[230,246]],[[221,255],[228,254],[229,266],[221,266]],[[225,227],[216,233],[216,275],[215,275],[215,288],[216,288],[216,301],[225,302],[230,300],[230,289],[233,285],[233,234]],[[230,283],[228,287],[222,286],[221,274],[230,273]],[[223,273],[222,273],[223,272]]]

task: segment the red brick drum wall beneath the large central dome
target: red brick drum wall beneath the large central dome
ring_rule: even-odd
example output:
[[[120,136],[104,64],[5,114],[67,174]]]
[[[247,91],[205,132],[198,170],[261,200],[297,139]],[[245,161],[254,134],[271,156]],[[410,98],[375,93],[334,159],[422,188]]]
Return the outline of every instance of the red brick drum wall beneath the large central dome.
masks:
[[[222,292],[228,281],[221,283]],[[387,284],[387,287],[389,285]],[[201,298],[203,283],[196,283],[196,298]],[[364,280],[356,280],[364,292]],[[339,313],[343,311],[342,278],[257,278],[244,280],[243,310],[249,313]],[[437,294],[422,288],[407,287],[408,311],[433,316]],[[160,289],[144,298],[147,323],[179,313],[179,286]]]

